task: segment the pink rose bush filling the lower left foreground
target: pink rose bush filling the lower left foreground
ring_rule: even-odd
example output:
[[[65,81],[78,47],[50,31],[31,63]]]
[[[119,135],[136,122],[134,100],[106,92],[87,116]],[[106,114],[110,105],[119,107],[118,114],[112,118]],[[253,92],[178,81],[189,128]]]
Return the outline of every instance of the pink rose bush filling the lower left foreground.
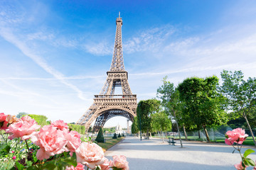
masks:
[[[0,169],[129,170],[126,157],[108,160],[100,146],[90,139],[81,142],[63,120],[40,127],[28,115],[18,119],[0,113]]]

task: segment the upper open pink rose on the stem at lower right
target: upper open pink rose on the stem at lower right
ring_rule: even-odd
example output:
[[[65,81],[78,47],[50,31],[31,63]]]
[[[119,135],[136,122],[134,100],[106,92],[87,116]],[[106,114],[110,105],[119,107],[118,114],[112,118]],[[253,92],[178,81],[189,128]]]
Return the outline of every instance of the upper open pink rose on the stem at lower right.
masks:
[[[241,128],[236,128],[232,131],[228,130],[225,135],[227,137],[227,139],[225,139],[227,145],[233,145],[234,142],[242,145],[242,142],[244,142],[248,136],[245,134],[245,130]]]

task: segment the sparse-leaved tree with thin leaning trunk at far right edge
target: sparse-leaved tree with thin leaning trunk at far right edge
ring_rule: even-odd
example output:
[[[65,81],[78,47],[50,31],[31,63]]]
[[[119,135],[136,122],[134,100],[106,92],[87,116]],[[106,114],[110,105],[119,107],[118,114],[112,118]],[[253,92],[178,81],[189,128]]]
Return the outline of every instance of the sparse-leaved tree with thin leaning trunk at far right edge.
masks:
[[[245,81],[241,71],[235,71],[233,73],[223,70],[220,75],[223,79],[220,91],[228,98],[228,109],[245,118],[252,139],[255,142],[255,137],[247,116],[250,112],[255,110],[256,107],[256,78],[249,77],[247,81]]]

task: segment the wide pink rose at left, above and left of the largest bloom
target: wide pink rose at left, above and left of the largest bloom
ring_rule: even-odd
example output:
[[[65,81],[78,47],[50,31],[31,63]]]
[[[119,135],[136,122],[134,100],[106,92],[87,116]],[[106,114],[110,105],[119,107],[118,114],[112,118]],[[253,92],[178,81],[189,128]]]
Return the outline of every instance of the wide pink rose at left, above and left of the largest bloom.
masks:
[[[14,139],[16,137],[21,137],[21,140],[28,140],[33,135],[36,134],[41,126],[36,123],[36,120],[32,119],[28,115],[22,117],[18,122],[9,125],[6,130],[7,133],[11,133],[8,137],[9,139]]]

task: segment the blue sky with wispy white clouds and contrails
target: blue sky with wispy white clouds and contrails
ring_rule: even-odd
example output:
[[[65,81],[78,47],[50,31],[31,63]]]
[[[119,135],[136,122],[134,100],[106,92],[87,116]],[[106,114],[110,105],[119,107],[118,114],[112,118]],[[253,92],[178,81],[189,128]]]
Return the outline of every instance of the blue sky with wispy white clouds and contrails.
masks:
[[[256,1],[0,1],[0,112],[76,122],[102,89],[123,19],[138,101],[161,79],[256,74]],[[126,126],[112,118],[107,126]]]

